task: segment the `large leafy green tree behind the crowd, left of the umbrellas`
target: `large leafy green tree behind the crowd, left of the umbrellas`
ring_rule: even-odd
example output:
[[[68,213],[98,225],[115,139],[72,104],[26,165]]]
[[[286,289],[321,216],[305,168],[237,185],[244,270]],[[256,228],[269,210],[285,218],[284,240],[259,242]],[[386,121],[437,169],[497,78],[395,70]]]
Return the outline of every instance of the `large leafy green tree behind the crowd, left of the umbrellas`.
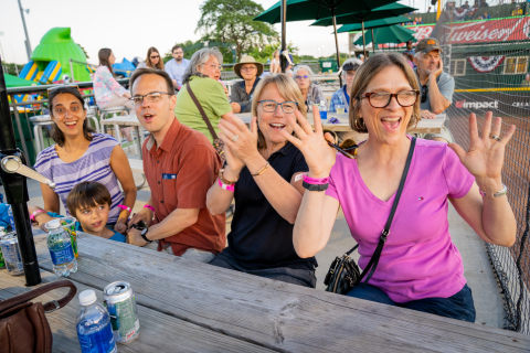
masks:
[[[206,0],[200,9],[195,33],[201,32],[203,40],[235,45],[237,61],[252,47],[278,40],[271,24],[252,20],[263,12],[263,7],[252,0]]]

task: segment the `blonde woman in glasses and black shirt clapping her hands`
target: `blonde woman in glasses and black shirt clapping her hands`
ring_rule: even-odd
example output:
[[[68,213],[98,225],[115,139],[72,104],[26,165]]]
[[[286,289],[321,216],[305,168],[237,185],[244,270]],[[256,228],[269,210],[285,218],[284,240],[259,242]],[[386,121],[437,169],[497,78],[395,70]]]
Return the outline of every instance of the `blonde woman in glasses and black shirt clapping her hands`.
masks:
[[[298,149],[279,133],[293,128],[287,116],[306,107],[286,74],[262,78],[252,101],[251,129],[239,118],[219,124],[226,165],[206,195],[208,210],[223,214],[235,200],[229,247],[210,265],[315,288],[314,257],[301,259],[293,245],[307,164]]]

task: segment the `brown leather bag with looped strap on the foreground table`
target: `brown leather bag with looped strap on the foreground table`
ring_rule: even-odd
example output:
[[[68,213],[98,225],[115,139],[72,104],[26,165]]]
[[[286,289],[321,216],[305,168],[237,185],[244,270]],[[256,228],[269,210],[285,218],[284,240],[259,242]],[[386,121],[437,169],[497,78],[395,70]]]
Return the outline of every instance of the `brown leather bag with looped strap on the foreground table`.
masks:
[[[53,289],[68,287],[66,297],[46,303],[30,302]],[[53,336],[46,312],[65,307],[77,292],[70,280],[59,280],[0,301],[0,353],[50,353]]]

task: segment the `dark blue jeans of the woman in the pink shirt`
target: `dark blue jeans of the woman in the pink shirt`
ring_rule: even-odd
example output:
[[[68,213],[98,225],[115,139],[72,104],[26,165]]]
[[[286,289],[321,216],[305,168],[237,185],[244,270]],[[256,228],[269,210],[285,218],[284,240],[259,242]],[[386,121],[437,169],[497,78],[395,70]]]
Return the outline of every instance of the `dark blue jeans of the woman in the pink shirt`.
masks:
[[[347,296],[388,306],[434,313],[445,318],[475,322],[475,306],[473,303],[471,289],[467,287],[467,285],[449,298],[424,298],[409,302],[394,302],[384,291],[370,285],[365,285],[364,287],[357,286],[350,290]]]

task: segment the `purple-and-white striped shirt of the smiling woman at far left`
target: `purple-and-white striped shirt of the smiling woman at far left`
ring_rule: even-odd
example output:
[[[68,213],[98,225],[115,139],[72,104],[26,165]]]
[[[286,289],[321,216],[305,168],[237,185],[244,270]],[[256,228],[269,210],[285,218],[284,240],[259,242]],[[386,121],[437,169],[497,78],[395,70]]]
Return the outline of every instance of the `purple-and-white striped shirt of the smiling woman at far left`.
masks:
[[[118,186],[118,179],[110,168],[110,153],[119,143],[106,133],[93,133],[93,137],[86,152],[76,161],[63,162],[55,151],[55,145],[52,145],[39,153],[34,167],[39,173],[56,184],[54,191],[68,215],[66,197],[76,184],[83,181],[97,181],[107,186],[113,199],[107,224],[116,223],[121,211],[117,205],[124,202],[124,196]]]

